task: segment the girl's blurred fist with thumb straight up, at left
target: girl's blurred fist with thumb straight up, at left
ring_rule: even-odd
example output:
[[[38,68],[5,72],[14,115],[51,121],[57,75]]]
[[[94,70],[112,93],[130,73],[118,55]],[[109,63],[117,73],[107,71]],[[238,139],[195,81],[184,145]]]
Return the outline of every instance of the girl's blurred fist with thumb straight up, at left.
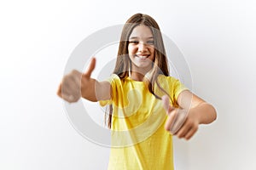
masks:
[[[61,84],[57,90],[57,95],[65,99],[69,103],[77,102],[83,92],[84,94],[90,90],[91,87],[91,72],[95,69],[96,59],[92,58],[84,74],[79,71],[73,70],[65,77],[62,78]],[[87,89],[86,89],[87,88]]]

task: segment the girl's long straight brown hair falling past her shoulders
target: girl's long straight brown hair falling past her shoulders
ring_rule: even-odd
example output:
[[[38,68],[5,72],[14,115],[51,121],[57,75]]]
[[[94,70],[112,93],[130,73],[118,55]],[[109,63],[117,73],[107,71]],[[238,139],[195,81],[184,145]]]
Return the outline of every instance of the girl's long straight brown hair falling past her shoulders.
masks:
[[[160,74],[169,76],[169,68],[163,38],[160,33],[160,27],[156,21],[148,14],[134,14],[130,19],[126,21],[119,41],[118,57],[113,70],[113,74],[118,75],[121,80],[129,77],[129,71],[131,68],[131,59],[128,57],[129,37],[131,35],[131,31],[133,31],[133,29],[139,25],[148,26],[148,28],[153,33],[154,65],[150,71],[148,79],[144,78],[144,82],[147,83],[149,92],[154,94],[157,99],[160,99],[160,97],[154,93],[154,84],[156,83],[157,87],[160,88],[160,90],[162,90],[165,94],[167,94],[166,91],[160,87],[160,83],[157,81],[157,77]],[[125,55],[127,55],[127,57],[124,57]],[[112,105],[109,105],[108,112],[109,113],[106,113],[105,116],[105,122],[108,122],[108,127],[110,128],[113,112]],[[106,117],[108,117],[108,119]]]

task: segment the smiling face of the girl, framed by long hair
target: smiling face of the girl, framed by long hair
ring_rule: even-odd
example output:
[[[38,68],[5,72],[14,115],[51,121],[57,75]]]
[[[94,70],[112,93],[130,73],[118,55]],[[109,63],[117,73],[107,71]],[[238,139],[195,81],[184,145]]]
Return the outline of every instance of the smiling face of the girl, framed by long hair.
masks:
[[[128,53],[132,70],[147,72],[154,60],[154,37],[148,26],[136,26],[129,37]]]

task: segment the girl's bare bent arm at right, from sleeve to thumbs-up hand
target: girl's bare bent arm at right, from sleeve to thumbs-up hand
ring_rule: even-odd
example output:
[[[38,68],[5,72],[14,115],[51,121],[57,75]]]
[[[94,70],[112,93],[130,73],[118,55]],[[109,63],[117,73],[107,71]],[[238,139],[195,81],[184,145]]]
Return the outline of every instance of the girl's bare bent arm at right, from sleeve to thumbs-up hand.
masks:
[[[163,98],[164,103],[166,98]],[[195,94],[184,90],[177,97],[179,108],[167,106],[166,130],[171,131],[178,138],[190,139],[200,124],[213,122],[217,113],[214,107]]]

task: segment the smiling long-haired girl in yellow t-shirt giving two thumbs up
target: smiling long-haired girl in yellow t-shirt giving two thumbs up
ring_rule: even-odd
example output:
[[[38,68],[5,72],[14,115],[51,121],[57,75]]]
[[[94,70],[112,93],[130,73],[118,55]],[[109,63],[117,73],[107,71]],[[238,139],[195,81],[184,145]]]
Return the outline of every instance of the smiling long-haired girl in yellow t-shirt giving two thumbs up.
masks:
[[[98,82],[84,74],[63,77],[57,94],[68,102],[83,97],[109,105],[112,148],[108,169],[173,169],[172,135],[190,139],[216,111],[169,76],[166,51],[156,21],[134,14],[123,28],[113,75]]]

